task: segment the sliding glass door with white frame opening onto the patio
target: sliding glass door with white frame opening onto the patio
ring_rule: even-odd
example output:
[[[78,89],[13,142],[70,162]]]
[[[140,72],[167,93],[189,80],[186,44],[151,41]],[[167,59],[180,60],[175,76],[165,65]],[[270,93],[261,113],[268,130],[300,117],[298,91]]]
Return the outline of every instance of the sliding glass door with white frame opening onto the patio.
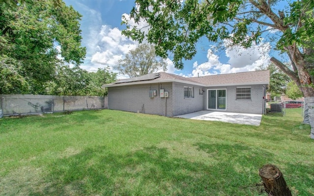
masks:
[[[226,89],[214,89],[207,91],[207,109],[226,110]]]

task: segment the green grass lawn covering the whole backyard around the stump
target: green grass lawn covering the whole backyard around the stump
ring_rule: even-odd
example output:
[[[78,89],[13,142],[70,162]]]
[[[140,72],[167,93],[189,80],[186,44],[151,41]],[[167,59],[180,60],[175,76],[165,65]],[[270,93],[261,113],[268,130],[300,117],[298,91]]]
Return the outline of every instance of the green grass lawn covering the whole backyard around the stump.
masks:
[[[2,118],[0,195],[259,196],[258,171],[274,164],[294,196],[311,196],[314,140],[300,114],[261,126],[112,110]]]

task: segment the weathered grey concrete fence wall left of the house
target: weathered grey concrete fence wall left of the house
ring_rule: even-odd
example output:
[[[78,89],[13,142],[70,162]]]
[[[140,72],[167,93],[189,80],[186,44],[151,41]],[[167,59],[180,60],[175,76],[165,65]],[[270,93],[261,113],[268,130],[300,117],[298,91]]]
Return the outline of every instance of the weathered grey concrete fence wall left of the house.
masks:
[[[107,98],[97,96],[0,95],[3,116],[106,109]]]

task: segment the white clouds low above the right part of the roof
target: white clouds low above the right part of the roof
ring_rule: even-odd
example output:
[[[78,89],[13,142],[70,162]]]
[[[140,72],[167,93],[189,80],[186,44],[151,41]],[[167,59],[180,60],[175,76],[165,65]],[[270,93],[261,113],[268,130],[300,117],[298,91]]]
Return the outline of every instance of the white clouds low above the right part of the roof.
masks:
[[[228,42],[225,42],[225,46]],[[219,56],[209,49],[207,53],[208,61],[198,65],[194,62],[192,71],[189,76],[204,76],[211,74],[238,73],[254,71],[259,66],[266,66],[269,62],[268,52],[270,50],[269,43],[253,45],[248,49],[241,46],[227,48],[225,50],[228,57],[227,64],[222,63]]]

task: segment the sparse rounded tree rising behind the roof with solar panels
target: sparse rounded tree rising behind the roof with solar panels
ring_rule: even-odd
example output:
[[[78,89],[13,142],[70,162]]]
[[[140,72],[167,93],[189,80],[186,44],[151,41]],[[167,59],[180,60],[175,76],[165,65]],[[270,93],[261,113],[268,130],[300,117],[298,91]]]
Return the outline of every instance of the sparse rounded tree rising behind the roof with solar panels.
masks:
[[[139,45],[136,49],[130,50],[124,59],[119,60],[119,65],[115,66],[114,69],[130,77],[155,73],[158,70],[166,71],[165,59],[157,57],[155,52],[155,47],[152,45]]]

